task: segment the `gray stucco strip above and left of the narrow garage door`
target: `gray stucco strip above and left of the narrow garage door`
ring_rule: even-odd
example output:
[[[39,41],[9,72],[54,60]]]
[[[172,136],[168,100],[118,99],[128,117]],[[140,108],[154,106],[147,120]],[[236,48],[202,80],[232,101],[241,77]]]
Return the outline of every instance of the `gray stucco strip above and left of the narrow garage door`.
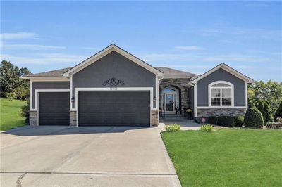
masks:
[[[35,108],[35,89],[70,89],[70,82],[32,82],[32,108]]]

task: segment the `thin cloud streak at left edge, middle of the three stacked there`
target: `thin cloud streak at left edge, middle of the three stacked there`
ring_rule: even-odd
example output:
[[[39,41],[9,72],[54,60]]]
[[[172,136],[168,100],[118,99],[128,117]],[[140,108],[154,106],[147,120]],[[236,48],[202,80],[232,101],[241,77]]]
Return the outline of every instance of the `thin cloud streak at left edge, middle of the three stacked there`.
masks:
[[[36,44],[1,44],[1,50],[17,50],[17,49],[32,49],[32,50],[52,50],[66,49],[65,46],[45,46]]]

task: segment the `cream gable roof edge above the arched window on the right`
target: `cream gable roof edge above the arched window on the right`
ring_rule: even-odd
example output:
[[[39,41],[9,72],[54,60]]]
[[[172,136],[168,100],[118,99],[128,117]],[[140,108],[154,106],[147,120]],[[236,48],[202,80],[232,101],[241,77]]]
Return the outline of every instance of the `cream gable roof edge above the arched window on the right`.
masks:
[[[225,63],[221,63],[221,64],[217,65],[216,67],[212,68],[212,70],[205,72],[203,75],[192,77],[191,82],[196,83],[200,79],[207,77],[208,75],[212,74],[213,72],[215,72],[216,70],[219,70],[219,69],[226,70],[227,72],[231,73],[235,77],[238,77],[239,79],[243,79],[247,83],[254,82],[254,80],[251,79],[250,77],[247,77],[246,75],[243,75],[242,73],[238,72],[237,70],[234,70],[232,67],[226,65]]]

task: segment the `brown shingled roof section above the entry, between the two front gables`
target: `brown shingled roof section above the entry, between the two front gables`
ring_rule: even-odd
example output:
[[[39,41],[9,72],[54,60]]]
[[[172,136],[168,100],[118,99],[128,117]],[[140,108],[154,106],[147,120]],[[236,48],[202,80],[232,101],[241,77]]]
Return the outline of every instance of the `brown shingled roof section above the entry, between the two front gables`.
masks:
[[[196,74],[190,72],[183,72],[180,70],[171,69],[168,67],[156,67],[161,72],[164,72],[164,79],[190,79],[191,77],[195,77]]]

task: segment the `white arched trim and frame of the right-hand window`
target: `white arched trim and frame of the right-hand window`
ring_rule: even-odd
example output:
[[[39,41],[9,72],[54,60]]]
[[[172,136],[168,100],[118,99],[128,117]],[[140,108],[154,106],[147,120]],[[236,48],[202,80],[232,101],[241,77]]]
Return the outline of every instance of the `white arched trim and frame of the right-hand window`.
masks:
[[[219,87],[212,87],[214,84],[228,84],[229,86],[231,86],[231,106],[223,106],[222,105],[222,96],[220,97],[221,100],[221,105],[220,106],[213,106],[212,105],[212,89],[221,89],[222,90],[222,86]],[[230,87],[226,87],[226,88],[230,88]],[[222,92],[222,91],[221,91]],[[199,107],[198,107],[199,108]],[[234,85],[231,82],[226,82],[226,81],[216,81],[216,82],[212,82],[209,84],[209,108],[234,108]]]

